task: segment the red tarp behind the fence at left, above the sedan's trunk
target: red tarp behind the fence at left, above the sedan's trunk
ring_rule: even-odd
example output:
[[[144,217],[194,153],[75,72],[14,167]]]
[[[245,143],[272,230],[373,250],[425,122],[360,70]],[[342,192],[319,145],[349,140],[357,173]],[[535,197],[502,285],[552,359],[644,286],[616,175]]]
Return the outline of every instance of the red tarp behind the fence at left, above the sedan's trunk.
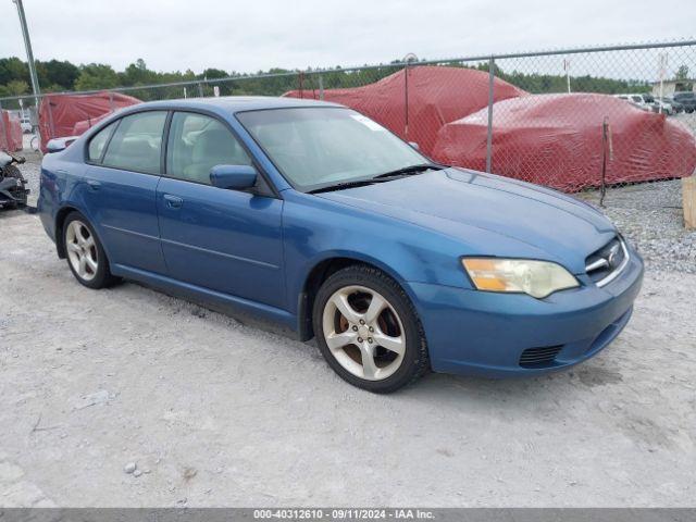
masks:
[[[135,103],[140,103],[140,100],[119,92],[47,95],[39,107],[41,150],[46,152],[49,139],[74,136],[73,129],[77,122],[94,121],[95,117]],[[83,132],[87,128],[89,127]]]

